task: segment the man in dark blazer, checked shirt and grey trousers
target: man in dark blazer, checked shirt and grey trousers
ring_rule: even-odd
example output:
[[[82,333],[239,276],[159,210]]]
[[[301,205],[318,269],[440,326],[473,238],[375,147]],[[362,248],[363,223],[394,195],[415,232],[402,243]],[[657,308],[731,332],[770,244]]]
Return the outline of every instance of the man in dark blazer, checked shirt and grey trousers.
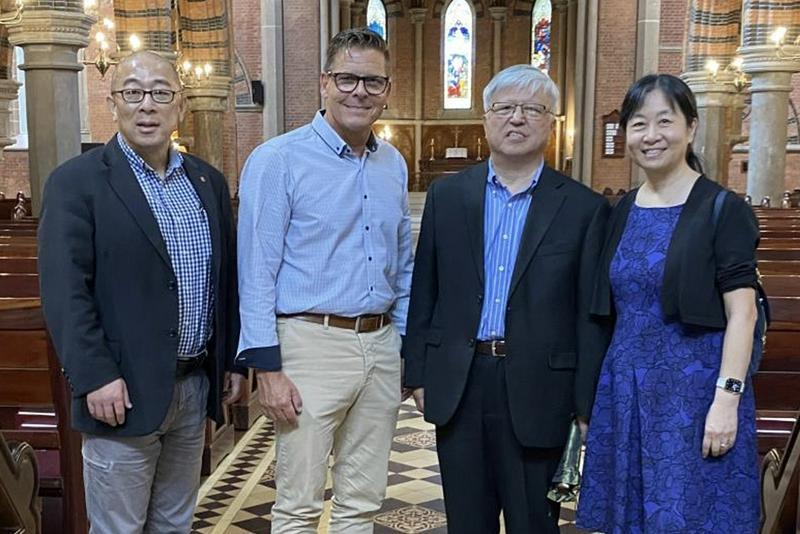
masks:
[[[108,97],[119,133],[49,177],[42,308],[83,433],[92,532],[188,532],[206,416],[241,391],[228,187],[171,148],[184,113],[169,61],[140,52]]]

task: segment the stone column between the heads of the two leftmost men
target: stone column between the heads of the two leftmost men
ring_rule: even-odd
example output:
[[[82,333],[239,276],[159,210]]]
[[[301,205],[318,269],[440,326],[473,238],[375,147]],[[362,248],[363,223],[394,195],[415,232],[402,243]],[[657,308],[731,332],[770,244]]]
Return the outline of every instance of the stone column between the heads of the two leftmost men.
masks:
[[[194,126],[194,153],[220,171],[224,155],[220,136],[223,115],[228,110],[230,85],[230,78],[212,76],[184,90]]]

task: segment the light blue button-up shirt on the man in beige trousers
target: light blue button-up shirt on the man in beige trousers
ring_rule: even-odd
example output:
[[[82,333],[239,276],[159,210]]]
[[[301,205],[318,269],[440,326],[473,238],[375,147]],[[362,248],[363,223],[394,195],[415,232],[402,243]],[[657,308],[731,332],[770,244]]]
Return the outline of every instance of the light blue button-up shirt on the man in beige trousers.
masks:
[[[239,186],[237,363],[280,369],[276,315],[390,312],[405,332],[408,175],[374,136],[356,156],[321,112],[256,148]]]

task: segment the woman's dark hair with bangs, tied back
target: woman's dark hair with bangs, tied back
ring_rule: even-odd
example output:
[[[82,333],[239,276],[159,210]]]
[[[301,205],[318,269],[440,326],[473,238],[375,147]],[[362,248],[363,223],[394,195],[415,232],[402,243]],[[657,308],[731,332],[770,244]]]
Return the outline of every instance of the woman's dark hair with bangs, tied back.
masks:
[[[671,74],[648,74],[639,78],[628,89],[628,94],[625,95],[625,100],[622,101],[619,127],[623,132],[631,116],[642,108],[644,99],[655,89],[659,89],[664,93],[673,110],[675,106],[678,107],[683,116],[686,117],[687,126],[692,124],[692,121],[697,120],[697,102],[694,99],[694,93],[686,85],[686,82]],[[703,165],[700,162],[700,158],[692,150],[691,143],[686,147],[686,163],[695,171],[703,174]]]

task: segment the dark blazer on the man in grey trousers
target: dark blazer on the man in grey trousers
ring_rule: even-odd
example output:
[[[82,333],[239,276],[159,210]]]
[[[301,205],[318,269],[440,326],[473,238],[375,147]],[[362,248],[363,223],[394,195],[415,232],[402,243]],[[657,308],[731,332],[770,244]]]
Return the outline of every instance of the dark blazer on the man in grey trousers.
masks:
[[[225,178],[185,156],[184,169],[208,215],[214,287],[206,371],[208,414],[223,420],[221,388],[239,335],[236,244]],[[58,167],[44,188],[39,225],[42,309],[72,388],[72,423],[90,434],[156,430],[172,400],[178,291],[158,223],[116,136]],[[122,377],[133,408],[111,427],[86,395]]]

